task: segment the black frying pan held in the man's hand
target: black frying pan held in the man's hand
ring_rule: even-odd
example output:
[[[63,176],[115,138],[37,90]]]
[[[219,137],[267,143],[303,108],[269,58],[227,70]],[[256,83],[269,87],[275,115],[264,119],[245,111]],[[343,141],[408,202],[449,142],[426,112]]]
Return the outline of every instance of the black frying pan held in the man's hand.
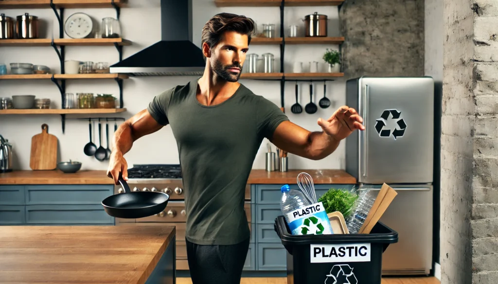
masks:
[[[102,201],[104,210],[116,218],[143,218],[160,213],[168,204],[169,195],[158,191],[131,191],[120,173],[118,181],[124,193],[111,195]]]

